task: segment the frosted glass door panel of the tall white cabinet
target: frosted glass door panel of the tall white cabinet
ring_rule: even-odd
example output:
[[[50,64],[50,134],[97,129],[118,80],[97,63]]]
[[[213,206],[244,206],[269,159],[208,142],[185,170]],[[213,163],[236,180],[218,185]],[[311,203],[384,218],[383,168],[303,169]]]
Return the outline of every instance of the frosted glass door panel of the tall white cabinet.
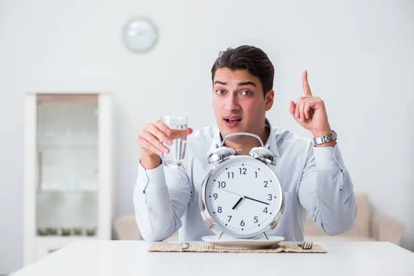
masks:
[[[98,95],[37,95],[37,235],[96,235]]]

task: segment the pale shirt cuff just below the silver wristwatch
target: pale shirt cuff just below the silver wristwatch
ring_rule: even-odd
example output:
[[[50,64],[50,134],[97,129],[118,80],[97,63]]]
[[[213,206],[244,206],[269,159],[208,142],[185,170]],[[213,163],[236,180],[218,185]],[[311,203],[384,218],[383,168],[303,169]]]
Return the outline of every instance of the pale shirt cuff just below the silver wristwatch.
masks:
[[[345,170],[344,161],[338,145],[328,147],[314,147],[315,164],[317,170]]]

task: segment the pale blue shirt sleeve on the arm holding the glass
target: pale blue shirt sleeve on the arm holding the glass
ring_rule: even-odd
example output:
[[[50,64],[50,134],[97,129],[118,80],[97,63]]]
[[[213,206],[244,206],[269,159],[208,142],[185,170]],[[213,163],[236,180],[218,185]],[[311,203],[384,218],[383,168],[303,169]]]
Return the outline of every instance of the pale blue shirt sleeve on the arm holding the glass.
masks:
[[[186,170],[159,165],[146,170],[139,162],[134,187],[135,218],[147,241],[171,237],[181,227],[192,190]]]

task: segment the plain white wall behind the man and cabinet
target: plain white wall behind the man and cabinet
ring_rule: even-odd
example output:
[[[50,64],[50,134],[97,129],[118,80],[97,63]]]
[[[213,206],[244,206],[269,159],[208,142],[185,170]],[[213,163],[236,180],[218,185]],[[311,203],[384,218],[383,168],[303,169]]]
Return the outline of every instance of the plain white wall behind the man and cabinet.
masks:
[[[217,52],[249,43],[275,64],[273,124],[309,137],[288,112],[307,69],[326,101],[356,191],[406,224],[414,250],[413,1],[0,1],[0,274],[22,265],[23,95],[112,91],[117,101],[117,214],[132,212],[141,125],[187,115],[214,123]],[[135,15],[154,19],[155,50],[121,43]],[[7,97],[7,99],[6,99]],[[161,102],[160,99],[163,99]]]

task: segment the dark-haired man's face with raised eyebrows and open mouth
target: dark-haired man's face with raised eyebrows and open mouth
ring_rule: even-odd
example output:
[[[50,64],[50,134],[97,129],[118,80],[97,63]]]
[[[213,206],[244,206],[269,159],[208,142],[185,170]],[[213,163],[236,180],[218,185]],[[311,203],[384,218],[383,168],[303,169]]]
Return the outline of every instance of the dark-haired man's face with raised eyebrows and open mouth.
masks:
[[[259,77],[250,75],[248,70],[218,68],[213,80],[213,109],[222,138],[235,132],[262,135],[273,96],[270,90],[263,97]]]

